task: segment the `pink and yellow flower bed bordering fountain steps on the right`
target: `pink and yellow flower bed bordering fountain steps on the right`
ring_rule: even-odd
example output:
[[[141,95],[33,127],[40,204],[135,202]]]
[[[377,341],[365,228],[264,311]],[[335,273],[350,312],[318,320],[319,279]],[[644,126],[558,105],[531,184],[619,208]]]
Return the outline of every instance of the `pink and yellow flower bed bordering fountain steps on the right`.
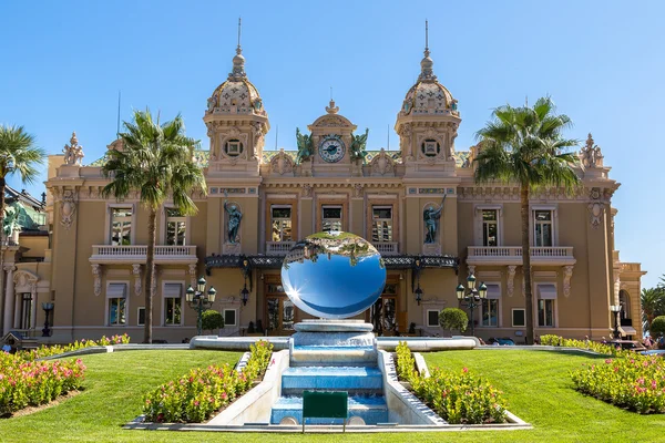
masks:
[[[461,372],[434,368],[426,378],[415,370],[415,361],[406,342],[396,348],[397,373],[411,383],[416,395],[451,424],[504,423],[507,403],[501,391],[467,368]]]

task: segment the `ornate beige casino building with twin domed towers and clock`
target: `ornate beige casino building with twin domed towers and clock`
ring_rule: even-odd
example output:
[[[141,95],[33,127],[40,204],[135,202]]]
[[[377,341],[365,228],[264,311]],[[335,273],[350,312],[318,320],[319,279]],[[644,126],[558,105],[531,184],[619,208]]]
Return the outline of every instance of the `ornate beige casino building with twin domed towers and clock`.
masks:
[[[456,287],[472,272],[488,286],[474,311],[477,336],[523,341],[520,189],[474,183],[479,147],[458,151],[458,101],[434,75],[429,50],[418,81],[395,103],[399,151],[367,150],[361,122],[332,101],[301,126],[291,143],[299,151],[265,151],[269,103],[249,82],[239,45],[236,52],[232,73],[202,106],[209,150],[196,152],[207,181],[207,195],[194,195],[198,214],[184,217],[166,204],[158,215],[154,339],[195,334],[185,291],[202,275],[217,290],[222,336],[289,334],[308,316],[284,292],[282,261],[298,239],[335,229],[366,238],[382,255],[383,293],[358,316],[380,333],[443,334],[438,312],[459,307]],[[109,145],[122,148],[121,141]],[[147,215],[135,194],[102,198],[103,159],[82,166],[82,152],[72,140],[64,156],[49,157],[50,244],[30,267],[6,259],[2,330],[41,336],[41,303],[51,301],[52,341],[123,332],[141,341]],[[621,261],[614,246],[620,184],[591,134],[580,157],[581,192],[532,196],[535,333],[610,337],[611,306],[620,306],[622,333],[640,338],[645,272]],[[34,316],[23,321],[22,309]]]

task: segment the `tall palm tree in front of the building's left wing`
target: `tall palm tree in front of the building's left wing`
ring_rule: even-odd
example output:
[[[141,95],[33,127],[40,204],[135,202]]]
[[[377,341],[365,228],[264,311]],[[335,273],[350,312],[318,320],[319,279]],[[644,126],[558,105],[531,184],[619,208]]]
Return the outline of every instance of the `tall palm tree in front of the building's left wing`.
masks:
[[[104,186],[104,198],[125,198],[131,192],[140,194],[147,210],[147,254],[145,257],[145,332],[143,342],[152,343],[152,301],[155,278],[155,237],[157,210],[172,197],[184,215],[193,215],[197,207],[190,197],[194,189],[206,192],[201,168],[193,162],[194,140],[185,136],[185,124],[180,114],[160,125],[149,110],[134,111],[134,121],[124,122],[125,133],[120,138],[122,150],[106,153],[102,166],[104,177],[113,181]]]

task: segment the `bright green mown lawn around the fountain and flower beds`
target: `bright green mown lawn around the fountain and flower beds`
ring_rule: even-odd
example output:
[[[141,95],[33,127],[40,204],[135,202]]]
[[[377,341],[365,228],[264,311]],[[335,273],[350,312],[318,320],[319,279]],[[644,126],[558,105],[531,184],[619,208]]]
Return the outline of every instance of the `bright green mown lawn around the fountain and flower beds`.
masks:
[[[139,415],[143,393],[188,368],[233,363],[239,353],[127,351],[85,356],[86,390],[31,415],[0,420],[0,442],[263,442],[336,441],[339,435],[232,434],[125,431]],[[546,351],[452,351],[426,354],[428,364],[462,367],[504,391],[510,410],[530,431],[420,434],[348,434],[349,442],[665,442],[665,416],[637,415],[572,390],[569,372],[602,361],[587,354]]]

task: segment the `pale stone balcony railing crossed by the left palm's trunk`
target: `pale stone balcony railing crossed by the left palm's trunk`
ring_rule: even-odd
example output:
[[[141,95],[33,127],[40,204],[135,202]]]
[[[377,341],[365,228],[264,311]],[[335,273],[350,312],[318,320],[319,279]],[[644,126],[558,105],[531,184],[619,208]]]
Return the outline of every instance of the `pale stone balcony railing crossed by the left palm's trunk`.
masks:
[[[147,245],[93,245],[91,262],[96,264],[143,264],[147,255]],[[195,264],[196,246],[155,246],[156,264]]]

